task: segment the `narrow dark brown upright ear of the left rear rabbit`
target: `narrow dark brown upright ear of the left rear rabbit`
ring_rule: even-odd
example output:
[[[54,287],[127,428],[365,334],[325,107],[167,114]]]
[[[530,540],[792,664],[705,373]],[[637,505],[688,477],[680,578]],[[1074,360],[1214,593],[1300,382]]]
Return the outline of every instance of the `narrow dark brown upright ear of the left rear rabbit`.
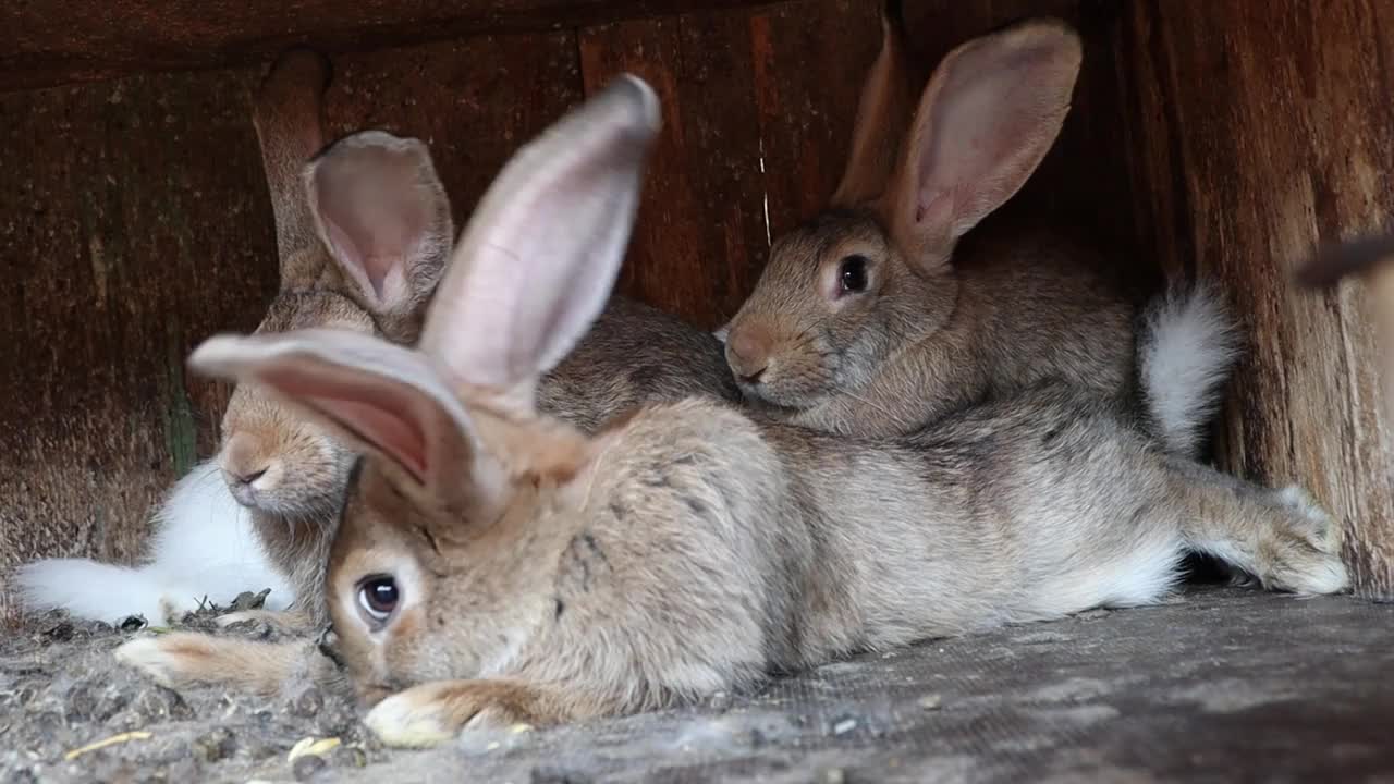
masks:
[[[322,54],[290,49],[272,66],[252,100],[252,124],[276,216],[282,289],[307,286],[319,273],[319,240],[300,174],[325,144],[322,103],[328,85],[329,61]]]

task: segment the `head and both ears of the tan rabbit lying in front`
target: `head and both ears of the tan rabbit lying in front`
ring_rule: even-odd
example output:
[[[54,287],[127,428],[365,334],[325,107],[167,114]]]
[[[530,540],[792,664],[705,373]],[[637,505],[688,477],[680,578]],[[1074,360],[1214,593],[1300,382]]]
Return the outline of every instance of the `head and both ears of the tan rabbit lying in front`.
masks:
[[[605,307],[658,124],[648,85],[622,77],[520,149],[461,234],[418,350],[308,329],[219,336],[191,357],[362,452],[326,600],[369,702],[487,674],[551,611],[538,548],[574,515],[605,432],[534,398]]]

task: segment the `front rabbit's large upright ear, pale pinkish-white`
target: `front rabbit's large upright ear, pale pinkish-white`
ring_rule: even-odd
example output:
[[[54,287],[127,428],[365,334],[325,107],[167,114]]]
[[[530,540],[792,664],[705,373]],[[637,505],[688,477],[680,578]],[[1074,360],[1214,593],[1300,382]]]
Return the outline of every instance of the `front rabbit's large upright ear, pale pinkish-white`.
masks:
[[[470,219],[421,336],[454,381],[531,407],[538,377],[609,299],[658,128],[654,91],[625,75],[509,160]]]

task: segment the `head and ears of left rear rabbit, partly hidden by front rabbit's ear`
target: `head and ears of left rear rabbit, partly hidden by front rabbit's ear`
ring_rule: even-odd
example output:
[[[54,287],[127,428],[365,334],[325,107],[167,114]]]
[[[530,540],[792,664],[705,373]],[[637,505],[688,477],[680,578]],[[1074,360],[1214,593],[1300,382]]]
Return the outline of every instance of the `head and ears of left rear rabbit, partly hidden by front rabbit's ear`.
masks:
[[[280,289],[259,333],[308,326],[413,342],[453,234],[425,145],[381,131],[323,148],[328,64],[293,50],[254,102],[276,216]],[[216,456],[233,497],[287,519],[337,511],[353,455],[254,384],[238,385]]]

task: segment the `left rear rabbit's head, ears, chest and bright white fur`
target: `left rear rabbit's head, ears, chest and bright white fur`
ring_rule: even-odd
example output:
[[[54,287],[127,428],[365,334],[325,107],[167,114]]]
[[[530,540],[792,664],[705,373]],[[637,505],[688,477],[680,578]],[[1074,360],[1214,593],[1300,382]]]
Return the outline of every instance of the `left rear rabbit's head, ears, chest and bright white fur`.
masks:
[[[449,202],[417,140],[365,131],[321,151],[328,78],[321,56],[293,49],[254,102],[280,255],[280,290],[256,332],[315,325],[411,342],[450,250]],[[169,625],[208,598],[270,587],[268,619],[322,622],[322,572],[353,453],[252,385],[233,391],[220,430],[216,458],[156,511],[144,565],[31,562],[17,575],[26,610]]]

